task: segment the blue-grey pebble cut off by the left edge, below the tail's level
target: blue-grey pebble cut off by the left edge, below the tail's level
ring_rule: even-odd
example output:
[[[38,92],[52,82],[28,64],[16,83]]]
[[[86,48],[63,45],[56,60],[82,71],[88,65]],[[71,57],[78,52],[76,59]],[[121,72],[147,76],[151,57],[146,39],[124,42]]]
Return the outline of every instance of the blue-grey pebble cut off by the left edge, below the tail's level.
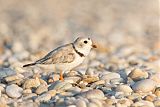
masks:
[[[16,71],[11,68],[0,68],[0,78],[15,75]]]

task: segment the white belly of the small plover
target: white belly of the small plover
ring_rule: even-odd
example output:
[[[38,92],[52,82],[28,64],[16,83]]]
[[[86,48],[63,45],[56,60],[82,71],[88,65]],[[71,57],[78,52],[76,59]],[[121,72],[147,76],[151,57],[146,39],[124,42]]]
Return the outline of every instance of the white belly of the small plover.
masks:
[[[73,62],[71,63],[63,63],[63,64],[56,64],[56,68],[62,71],[69,71],[78,65],[80,65],[84,61],[84,58],[76,58]]]

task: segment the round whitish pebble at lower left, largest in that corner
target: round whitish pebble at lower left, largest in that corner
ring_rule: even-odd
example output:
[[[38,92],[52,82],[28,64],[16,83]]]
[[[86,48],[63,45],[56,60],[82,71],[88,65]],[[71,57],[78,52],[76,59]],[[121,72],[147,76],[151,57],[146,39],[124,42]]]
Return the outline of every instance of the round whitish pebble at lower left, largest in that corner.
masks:
[[[18,98],[22,95],[23,89],[15,84],[6,87],[6,93],[9,97]]]

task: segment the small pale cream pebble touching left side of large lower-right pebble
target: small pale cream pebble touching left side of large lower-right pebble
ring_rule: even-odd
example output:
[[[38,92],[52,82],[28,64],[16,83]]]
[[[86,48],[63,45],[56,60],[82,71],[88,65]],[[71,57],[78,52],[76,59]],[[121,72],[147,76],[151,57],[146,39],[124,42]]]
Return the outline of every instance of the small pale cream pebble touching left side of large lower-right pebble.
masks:
[[[124,92],[124,93],[131,93],[133,90],[128,85],[119,85],[116,87],[116,91]]]

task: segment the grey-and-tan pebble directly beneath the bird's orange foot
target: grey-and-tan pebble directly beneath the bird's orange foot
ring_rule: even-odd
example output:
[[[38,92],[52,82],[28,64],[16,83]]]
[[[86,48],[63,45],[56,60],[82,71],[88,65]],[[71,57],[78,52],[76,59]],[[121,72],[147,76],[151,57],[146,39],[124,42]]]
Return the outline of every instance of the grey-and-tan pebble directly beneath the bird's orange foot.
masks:
[[[61,82],[61,81],[56,81],[54,83],[51,84],[51,86],[49,86],[49,90],[68,90],[72,88],[72,84],[68,83],[68,82]]]

